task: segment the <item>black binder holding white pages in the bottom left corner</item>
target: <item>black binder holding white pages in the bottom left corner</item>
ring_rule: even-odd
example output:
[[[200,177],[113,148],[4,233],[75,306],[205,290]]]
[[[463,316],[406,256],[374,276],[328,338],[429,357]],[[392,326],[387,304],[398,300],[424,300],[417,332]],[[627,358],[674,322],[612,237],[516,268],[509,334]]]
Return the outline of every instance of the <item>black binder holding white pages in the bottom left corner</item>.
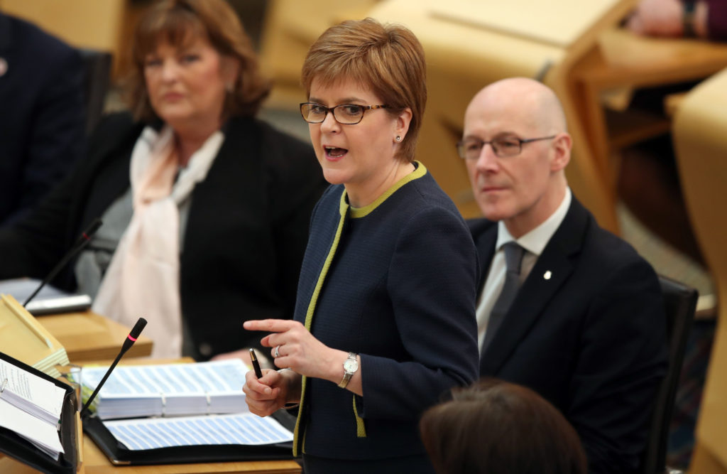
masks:
[[[20,360],[14,359],[3,352],[0,352],[0,359],[11,363],[13,366],[22,368],[23,371],[53,382],[57,387],[65,390],[65,398],[63,400],[63,408],[60,415],[60,443],[63,445],[65,453],[55,461],[44,452],[40,451],[32,443],[21,438],[14,431],[0,427],[0,452],[7,456],[17,459],[23,464],[31,466],[43,473],[76,473],[78,465],[78,446],[79,440],[76,438],[76,392],[73,387],[64,384],[52,376],[32,368]]]

